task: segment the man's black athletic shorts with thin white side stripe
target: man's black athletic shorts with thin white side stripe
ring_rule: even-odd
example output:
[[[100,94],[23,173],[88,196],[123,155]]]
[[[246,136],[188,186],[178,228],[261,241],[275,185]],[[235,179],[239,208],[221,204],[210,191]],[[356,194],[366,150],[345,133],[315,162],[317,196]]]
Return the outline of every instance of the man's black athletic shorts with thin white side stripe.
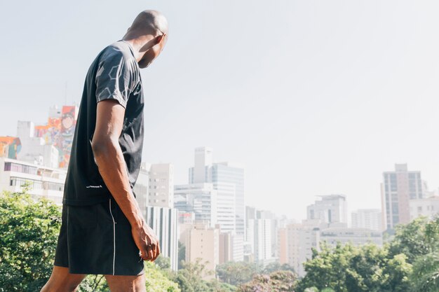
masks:
[[[72,274],[144,273],[131,225],[114,198],[88,206],[62,205],[55,263]]]

